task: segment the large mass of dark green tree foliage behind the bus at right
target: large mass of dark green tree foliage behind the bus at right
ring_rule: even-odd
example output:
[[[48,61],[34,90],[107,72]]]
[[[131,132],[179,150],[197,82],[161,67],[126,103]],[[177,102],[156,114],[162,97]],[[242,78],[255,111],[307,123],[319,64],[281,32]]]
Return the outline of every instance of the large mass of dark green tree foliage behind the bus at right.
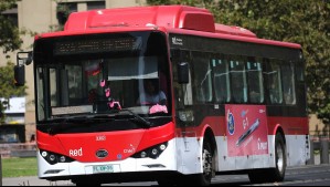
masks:
[[[209,9],[216,22],[246,28],[259,38],[299,43],[307,62],[308,110],[330,123],[330,1],[147,0]]]

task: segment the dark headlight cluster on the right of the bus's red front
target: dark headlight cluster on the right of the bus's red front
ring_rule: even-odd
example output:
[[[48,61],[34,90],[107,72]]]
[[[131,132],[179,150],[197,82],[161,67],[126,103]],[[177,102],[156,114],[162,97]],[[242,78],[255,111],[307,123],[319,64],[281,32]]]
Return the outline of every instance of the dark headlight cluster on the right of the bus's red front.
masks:
[[[134,158],[158,158],[168,147],[168,143],[158,144],[132,155]]]

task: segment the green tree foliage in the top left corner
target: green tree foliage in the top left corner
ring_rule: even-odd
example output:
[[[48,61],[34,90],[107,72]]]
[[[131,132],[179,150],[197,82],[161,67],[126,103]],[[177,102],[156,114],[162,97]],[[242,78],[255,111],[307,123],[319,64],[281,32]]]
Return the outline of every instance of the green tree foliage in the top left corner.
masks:
[[[0,46],[4,53],[18,50],[22,44],[19,28],[7,15],[2,14],[3,11],[15,6],[17,0],[0,1]]]

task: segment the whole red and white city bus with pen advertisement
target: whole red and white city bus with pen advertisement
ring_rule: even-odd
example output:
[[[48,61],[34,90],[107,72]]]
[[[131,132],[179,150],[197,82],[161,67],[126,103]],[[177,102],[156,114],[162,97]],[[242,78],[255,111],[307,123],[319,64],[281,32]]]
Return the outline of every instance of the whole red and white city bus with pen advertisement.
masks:
[[[15,80],[33,60],[42,179],[281,181],[310,158],[301,46],[214,23],[205,9],[72,13],[28,54]],[[146,80],[167,102],[139,104]]]

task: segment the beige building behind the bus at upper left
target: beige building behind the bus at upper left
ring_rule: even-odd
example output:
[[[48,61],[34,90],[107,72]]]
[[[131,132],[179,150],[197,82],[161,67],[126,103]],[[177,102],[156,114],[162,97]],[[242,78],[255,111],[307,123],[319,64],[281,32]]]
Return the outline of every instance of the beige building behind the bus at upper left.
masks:
[[[86,11],[94,9],[109,9],[146,6],[146,0],[19,0],[14,9],[1,12],[10,18],[20,29],[33,33],[50,32],[54,27],[63,25],[66,21],[65,11]],[[63,10],[63,7],[66,10]],[[23,51],[31,51],[34,35],[23,35]],[[8,61],[15,63],[15,54],[3,54],[0,49],[0,66]],[[34,82],[32,65],[25,69],[28,95],[25,98],[25,141],[35,134]],[[1,131],[4,132],[4,131]],[[10,133],[10,132],[9,132]]]

